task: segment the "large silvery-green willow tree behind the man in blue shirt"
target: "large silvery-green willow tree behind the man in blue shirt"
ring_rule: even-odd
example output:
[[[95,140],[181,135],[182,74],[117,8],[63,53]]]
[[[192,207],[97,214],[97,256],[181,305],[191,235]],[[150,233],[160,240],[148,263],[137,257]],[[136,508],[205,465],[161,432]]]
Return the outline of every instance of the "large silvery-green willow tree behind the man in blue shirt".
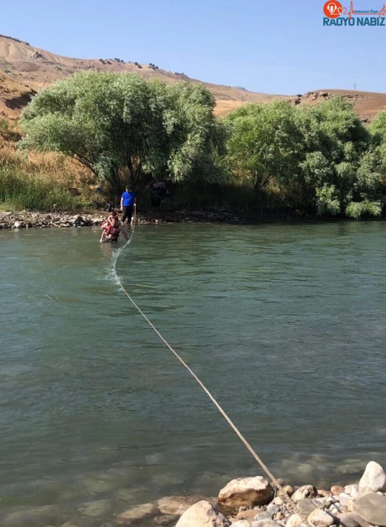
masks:
[[[143,172],[183,181],[211,158],[213,108],[200,84],[77,73],[40,91],[23,111],[21,147],[68,154],[112,187],[126,170],[134,187]]]

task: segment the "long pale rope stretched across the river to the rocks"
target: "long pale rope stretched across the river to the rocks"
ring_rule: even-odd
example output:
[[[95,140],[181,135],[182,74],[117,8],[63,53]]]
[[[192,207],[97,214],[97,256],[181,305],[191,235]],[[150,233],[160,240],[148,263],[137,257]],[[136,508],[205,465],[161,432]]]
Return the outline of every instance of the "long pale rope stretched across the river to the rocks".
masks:
[[[228,422],[228,424],[231,426],[232,430],[234,432],[236,432],[236,434],[239,436],[239,438],[241,439],[241,441],[244,443],[244,445],[247,447],[247,449],[249,450],[249,452],[252,454],[252,456],[255,458],[255,460],[259,463],[259,465],[261,466],[261,468],[263,469],[263,471],[265,471],[265,473],[268,475],[269,479],[272,481],[272,483],[278,488],[278,489],[281,489],[281,485],[280,483],[277,481],[276,477],[270,472],[270,470],[268,469],[267,465],[265,465],[265,463],[263,463],[263,461],[261,460],[260,456],[255,452],[255,450],[253,450],[252,446],[248,443],[248,441],[246,440],[246,438],[242,435],[242,433],[240,432],[240,430],[238,429],[238,427],[233,423],[232,419],[228,416],[228,414],[224,411],[224,409],[221,407],[221,405],[216,401],[216,399],[213,397],[213,395],[210,393],[209,389],[206,388],[206,386],[204,385],[204,383],[202,382],[202,380],[197,377],[197,375],[193,372],[192,368],[190,366],[188,366],[185,361],[183,360],[182,357],[180,357],[180,355],[178,355],[178,353],[176,352],[175,349],[172,348],[172,346],[168,343],[168,341],[161,335],[161,333],[159,333],[158,329],[154,326],[154,324],[147,318],[147,316],[145,315],[145,313],[142,311],[142,309],[140,309],[140,307],[136,304],[136,302],[133,300],[133,298],[131,298],[131,296],[128,294],[127,290],[125,289],[125,287],[123,286],[120,278],[118,277],[117,275],[117,271],[116,271],[116,264],[117,264],[117,259],[118,259],[118,256],[120,254],[120,252],[129,245],[129,243],[131,242],[131,239],[133,238],[133,235],[134,235],[134,230],[135,230],[135,222],[136,222],[136,207],[134,207],[134,226],[133,226],[133,230],[131,231],[131,236],[129,238],[129,240],[125,243],[125,245],[123,247],[121,247],[117,252],[116,252],[116,258],[115,258],[115,275],[116,275],[116,279],[118,281],[118,284],[120,286],[120,288],[124,291],[125,295],[127,296],[127,298],[130,300],[131,304],[133,304],[133,306],[138,310],[138,312],[144,317],[144,319],[146,320],[146,322],[148,323],[148,325],[154,329],[155,333],[158,335],[158,337],[163,341],[163,343],[170,349],[170,351],[175,355],[175,357],[177,357],[177,359],[180,361],[180,363],[187,369],[187,371],[191,374],[191,376],[196,380],[196,382],[201,386],[201,388],[203,389],[203,391],[206,393],[206,395],[208,395],[208,397],[211,399],[212,403],[215,405],[215,407],[218,409],[218,411],[222,414],[222,416],[226,419],[226,421]]]

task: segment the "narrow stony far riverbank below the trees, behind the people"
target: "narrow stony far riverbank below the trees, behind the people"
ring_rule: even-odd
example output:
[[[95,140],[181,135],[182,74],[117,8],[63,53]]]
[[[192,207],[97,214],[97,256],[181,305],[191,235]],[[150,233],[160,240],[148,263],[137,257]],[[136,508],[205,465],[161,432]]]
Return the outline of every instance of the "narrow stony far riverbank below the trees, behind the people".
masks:
[[[31,228],[68,228],[92,227],[100,225],[108,216],[104,211],[74,212],[36,212],[36,211],[0,211],[0,229],[31,229]],[[138,225],[158,223],[199,223],[199,222],[225,222],[225,223],[253,223],[287,220],[332,220],[312,216],[300,211],[280,210],[275,212],[243,212],[229,210],[176,210],[176,211],[150,211],[140,212],[136,222]],[[344,218],[347,220],[347,218]],[[374,218],[373,218],[374,219]]]

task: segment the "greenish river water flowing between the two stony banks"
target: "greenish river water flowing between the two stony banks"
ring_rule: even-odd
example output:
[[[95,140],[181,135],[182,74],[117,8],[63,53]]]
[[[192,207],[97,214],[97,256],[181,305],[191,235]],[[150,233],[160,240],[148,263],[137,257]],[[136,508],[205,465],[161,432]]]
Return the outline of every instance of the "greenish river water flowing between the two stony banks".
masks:
[[[385,225],[146,226],[118,259],[139,306],[292,484],[386,464]],[[261,474],[119,289],[117,246],[98,236],[0,232],[6,527],[109,525],[133,504]]]

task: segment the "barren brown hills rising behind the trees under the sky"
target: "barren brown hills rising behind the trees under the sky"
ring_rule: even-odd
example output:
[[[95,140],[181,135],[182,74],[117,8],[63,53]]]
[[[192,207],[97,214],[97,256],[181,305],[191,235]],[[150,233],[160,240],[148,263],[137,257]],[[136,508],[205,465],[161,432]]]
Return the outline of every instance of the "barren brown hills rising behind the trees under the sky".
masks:
[[[158,78],[166,83],[180,80],[196,81],[184,73],[160,69],[155,64],[124,62],[115,58],[71,58],[40,50],[17,38],[0,36],[0,119],[16,120],[31,96],[64,76],[77,71],[136,72],[145,79]],[[293,104],[314,104],[334,93],[341,93],[355,103],[359,115],[370,121],[379,111],[386,110],[386,94],[345,90],[318,90],[305,95],[270,95],[255,93],[239,86],[222,86],[203,82],[216,98],[217,115],[224,115],[246,102],[263,103],[275,99]]]

